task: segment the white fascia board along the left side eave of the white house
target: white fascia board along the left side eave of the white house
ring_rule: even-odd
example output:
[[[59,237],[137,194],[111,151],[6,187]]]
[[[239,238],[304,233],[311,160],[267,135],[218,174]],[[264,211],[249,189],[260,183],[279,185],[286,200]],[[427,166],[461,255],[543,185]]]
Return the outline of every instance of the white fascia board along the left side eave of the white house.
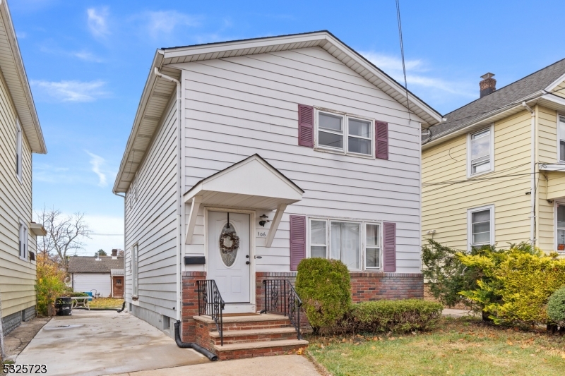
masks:
[[[157,80],[157,76],[153,74],[153,70],[155,67],[160,68],[162,61],[163,61],[163,51],[157,49],[157,51],[155,51],[155,56],[153,56],[153,63],[151,63],[151,68],[149,69],[148,78],[145,81],[145,86],[143,87],[141,99],[139,100],[139,104],[136,111],[136,117],[133,120],[131,133],[129,133],[128,142],[126,143],[126,150],[124,151],[124,155],[121,157],[118,174],[116,176],[116,180],[114,181],[114,188],[112,188],[112,191],[114,193],[126,192],[126,190],[124,189],[120,190],[119,182],[121,181],[121,176],[124,174],[129,153],[131,152],[131,149],[133,147],[133,141],[136,139],[136,135],[139,132],[139,124],[141,123],[141,119],[143,119],[143,113],[145,113],[145,107],[147,107],[147,102],[149,102],[149,98],[151,97],[151,92],[153,92],[153,87],[155,87],[155,81]]]

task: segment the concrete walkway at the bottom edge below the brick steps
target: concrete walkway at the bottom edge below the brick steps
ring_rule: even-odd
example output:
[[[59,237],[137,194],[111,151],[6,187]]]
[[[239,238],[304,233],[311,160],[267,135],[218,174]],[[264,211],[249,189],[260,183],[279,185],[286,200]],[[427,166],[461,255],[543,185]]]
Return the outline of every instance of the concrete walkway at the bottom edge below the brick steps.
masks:
[[[320,376],[305,356],[280,355],[186,365],[160,370],[121,373],[114,376]]]

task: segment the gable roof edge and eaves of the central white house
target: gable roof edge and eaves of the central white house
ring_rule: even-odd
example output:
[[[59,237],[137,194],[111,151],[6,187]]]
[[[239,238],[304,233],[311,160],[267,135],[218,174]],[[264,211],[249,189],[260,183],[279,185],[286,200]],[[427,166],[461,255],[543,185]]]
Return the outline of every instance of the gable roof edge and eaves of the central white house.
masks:
[[[355,71],[369,83],[395,99],[404,107],[408,107],[407,91],[403,85],[373,63],[341,42],[327,30],[306,32],[302,34],[282,35],[278,37],[262,37],[248,40],[195,44],[184,47],[158,49],[150,68],[148,79],[141,95],[141,101],[133,121],[133,127],[126,144],[124,157],[121,159],[119,172],[114,182],[114,193],[126,192],[135,176],[138,166],[150,145],[165,106],[174,92],[175,84],[153,74],[154,68],[172,78],[179,79],[180,72],[169,65],[191,61],[222,59],[232,56],[264,54],[271,51],[285,51],[307,47],[321,47],[352,71]],[[441,114],[426,104],[422,99],[408,91],[410,111],[429,125],[439,123]],[[149,109],[150,111],[146,111]],[[146,114],[147,112],[147,114]]]

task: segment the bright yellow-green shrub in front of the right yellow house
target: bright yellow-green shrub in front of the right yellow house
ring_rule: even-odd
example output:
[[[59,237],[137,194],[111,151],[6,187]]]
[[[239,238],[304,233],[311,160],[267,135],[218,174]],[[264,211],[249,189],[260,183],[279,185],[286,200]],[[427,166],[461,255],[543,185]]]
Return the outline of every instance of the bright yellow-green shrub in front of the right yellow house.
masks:
[[[463,265],[480,271],[477,288],[462,291],[479,303],[496,324],[549,323],[549,296],[565,284],[565,260],[557,253],[514,245],[501,252],[459,255]]]

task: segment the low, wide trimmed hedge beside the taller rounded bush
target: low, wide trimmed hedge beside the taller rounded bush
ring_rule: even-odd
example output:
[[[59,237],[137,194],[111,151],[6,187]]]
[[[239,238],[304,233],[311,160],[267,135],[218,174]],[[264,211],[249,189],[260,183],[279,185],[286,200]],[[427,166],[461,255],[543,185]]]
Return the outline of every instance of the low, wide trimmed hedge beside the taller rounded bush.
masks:
[[[425,330],[439,320],[443,308],[441,303],[420,299],[367,301],[352,305],[347,327],[370,333]]]

